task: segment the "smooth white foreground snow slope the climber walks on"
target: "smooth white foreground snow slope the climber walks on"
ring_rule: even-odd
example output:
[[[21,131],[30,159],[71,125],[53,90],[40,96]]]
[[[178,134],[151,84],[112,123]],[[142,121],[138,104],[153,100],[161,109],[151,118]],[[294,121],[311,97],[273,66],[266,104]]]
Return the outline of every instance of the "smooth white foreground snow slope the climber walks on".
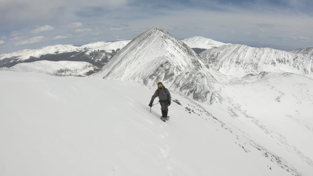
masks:
[[[0,71],[0,80],[3,176],[312,173],[289,173],[271,161],[271,151],[219,121],[225,111],[213,118],[174,92],[182,105],[173,102],[170,120],[162,122],[160,107],[149,113],[147,106],[154,89],[138,84],[9,71]]]

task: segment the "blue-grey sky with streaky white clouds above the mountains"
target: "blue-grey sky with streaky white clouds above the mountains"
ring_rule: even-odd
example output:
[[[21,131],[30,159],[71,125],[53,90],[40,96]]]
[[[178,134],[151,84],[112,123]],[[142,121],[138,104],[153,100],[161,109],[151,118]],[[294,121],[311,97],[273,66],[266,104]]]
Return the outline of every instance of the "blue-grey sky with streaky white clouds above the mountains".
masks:
[[[0,0],[0,54],[133,39],[151,27],[290,51],[313,47],[312,9],[312,0]]]

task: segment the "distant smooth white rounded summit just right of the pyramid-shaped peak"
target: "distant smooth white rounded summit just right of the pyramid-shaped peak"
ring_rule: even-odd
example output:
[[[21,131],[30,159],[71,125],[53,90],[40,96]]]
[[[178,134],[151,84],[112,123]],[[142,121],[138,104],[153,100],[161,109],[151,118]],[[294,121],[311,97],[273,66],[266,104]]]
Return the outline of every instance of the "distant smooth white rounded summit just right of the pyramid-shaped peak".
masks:
[[[204,38],[201,36],[195,36],[182,40],[190,48],[202,48],[202,49],[211,49],[216,47],[221,47],[229,44],[218,42],[212,39]]]

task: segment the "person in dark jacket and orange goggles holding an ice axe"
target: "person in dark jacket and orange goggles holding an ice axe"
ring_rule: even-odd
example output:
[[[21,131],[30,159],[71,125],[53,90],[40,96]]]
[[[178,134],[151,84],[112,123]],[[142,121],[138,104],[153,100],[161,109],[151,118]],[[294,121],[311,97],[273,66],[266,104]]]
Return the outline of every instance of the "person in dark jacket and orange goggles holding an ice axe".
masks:
[[[158,82],[157,86],[158,86],[158,89],[156,89],[156,91],[152,95],[149,106],[150,107],[152,106],[154,99],[158,96],[159,102],[161,105],[162,120],[165,120],[167,118],[167,112],[168,112],[167,106],[171,105],[171,94],[167,90],[167,88],[163,86],[162,82]]]

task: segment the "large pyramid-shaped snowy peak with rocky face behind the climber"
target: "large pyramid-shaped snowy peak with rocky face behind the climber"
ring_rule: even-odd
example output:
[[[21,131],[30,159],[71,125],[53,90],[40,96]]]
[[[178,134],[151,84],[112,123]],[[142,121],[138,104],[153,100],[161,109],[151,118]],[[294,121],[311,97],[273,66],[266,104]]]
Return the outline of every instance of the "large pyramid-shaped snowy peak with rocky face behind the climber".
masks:
[[[95,76],[131,80],[148,87],[162,81],[168,88],[199,101],[209,100],[217,83],[198,54],[161,28],[137,36]]]

